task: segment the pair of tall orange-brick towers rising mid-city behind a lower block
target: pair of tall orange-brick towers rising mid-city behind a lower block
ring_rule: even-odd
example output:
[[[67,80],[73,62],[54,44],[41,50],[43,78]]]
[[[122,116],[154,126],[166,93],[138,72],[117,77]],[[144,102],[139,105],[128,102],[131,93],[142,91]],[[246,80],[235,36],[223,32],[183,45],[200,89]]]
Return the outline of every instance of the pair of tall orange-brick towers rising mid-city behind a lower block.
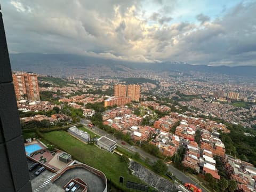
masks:
[[[132,101],[140,101],[140,85],[117,84],[114,88],[115,97],[130,97]]]

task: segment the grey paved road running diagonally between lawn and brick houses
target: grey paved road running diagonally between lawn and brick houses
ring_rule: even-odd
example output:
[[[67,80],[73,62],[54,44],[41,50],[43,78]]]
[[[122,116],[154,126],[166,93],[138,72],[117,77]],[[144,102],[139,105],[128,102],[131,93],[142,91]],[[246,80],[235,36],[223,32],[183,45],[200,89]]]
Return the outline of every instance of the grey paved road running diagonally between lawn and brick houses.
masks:
[[[83,120],[82,119],[82,124],[85,126],[88,126],[89,121],[88,120]],[[118,140],[116,139],[116,137],[114,135],[111,135],[107,132],[105,132],[104,130],[99,129],[97,126],[93,126],[92,129],[90,129],[92,132],[94,132],[95,134],[98,134],[100,136],[105,136],[109,139],[112,139],[114,141],[117,142],[117,145],[121,148],[124,148],[126,150],[129,150],[131,153],[139,153],[140,156],[142,158],[149,158],[151,163],[154,163],[158,160],[157,157],[148,154],[147,152],[143,151],[142,149],[135,147],[135,146],[131,146],[129,145],[129,143],[125,143],[125,145],[122,145],[122,140]],[[169,164],[168,166],[168,171],[170,171],[171,173],[173,173],[173,175],[179,179],[181,182],[183,183],[193,183],[194,185],[196,185],[197,187],[201,188],[203,192],[207,192],[206,190],[204,190],[204,188],[196,181],[194,181],[193,179],[191,179],[190,177],[188,177],[185,173],[181,172],[180,170],[176,169],[175,167],[173,167],[172,165]],[[195,178],[194,178],[195,179]],[[196,179],[195,179],[196,180]]]

